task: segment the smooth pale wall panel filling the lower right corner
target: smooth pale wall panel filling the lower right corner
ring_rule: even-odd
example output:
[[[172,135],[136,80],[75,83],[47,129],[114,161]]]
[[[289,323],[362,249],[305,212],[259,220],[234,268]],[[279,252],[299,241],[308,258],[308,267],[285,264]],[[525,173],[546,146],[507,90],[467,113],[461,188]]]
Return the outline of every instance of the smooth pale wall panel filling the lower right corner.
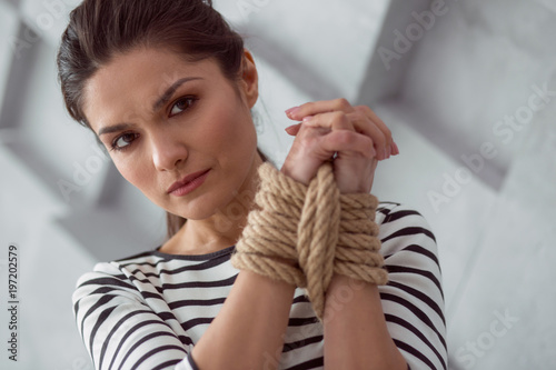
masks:
[[[556,104],[544,116],[555,113]],[[536,122],[510,167],[459,291],[449,337],[454,369],[556,367],[554,158],[556,127]]]

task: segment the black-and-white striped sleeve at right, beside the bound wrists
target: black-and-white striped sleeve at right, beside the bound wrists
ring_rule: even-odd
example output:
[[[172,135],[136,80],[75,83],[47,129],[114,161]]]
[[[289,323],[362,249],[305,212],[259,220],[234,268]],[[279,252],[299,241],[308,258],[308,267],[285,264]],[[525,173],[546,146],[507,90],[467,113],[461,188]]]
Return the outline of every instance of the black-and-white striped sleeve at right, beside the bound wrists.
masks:
[[[447,369],[435,236],[418,212],[394,203],[381,206],[377,222],[389,281],[379,291],[388,331],[411,370]]]

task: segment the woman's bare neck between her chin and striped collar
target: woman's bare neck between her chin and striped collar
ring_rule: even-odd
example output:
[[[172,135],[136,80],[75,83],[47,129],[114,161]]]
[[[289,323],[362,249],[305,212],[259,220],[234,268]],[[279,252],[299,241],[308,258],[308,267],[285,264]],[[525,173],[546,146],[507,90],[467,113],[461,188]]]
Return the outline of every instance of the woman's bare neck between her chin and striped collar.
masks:
[[[258,187],[258,168],[262,159],[257,153],[246,181],[225,208],[205,220],[188,220],[161,251],[171,254],[207,254],[235,246],[241,237],[252,208]]]

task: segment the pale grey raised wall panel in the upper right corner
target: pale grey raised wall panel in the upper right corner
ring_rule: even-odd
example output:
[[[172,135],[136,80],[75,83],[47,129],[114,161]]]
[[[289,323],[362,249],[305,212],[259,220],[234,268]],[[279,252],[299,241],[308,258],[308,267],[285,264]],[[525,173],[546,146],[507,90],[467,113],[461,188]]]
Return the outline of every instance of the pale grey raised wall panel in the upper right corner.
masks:
[[[401,99],[423,118],[417,129],[459,162],[494,144],[497,154],[479,177],[495,189],[555,98],[556,14],[548,3],[556,2],[447,1],[414,42]]]

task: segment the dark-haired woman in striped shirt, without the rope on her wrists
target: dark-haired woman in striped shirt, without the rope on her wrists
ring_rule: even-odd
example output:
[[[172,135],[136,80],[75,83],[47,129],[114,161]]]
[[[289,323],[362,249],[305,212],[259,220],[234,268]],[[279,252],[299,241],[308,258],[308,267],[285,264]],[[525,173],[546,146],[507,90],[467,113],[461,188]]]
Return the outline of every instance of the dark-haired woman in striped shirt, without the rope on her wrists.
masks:
[[[232,267],[265,161],[250,116],[258,77],[210,1],[86,0],[58,67],[72,118],[168,212],[166,243],[78,282],[97,369],[446,368],[436,244],[415,211],[379,204],[389,282],[335,274],[321,321],[301,289]],[[398,153],[380,119],[344,99],[287,116],[301,123],[287,129],[296,139],[280,173],[298,183],[332,161],[341,193],[368,193],[377,161]]]

